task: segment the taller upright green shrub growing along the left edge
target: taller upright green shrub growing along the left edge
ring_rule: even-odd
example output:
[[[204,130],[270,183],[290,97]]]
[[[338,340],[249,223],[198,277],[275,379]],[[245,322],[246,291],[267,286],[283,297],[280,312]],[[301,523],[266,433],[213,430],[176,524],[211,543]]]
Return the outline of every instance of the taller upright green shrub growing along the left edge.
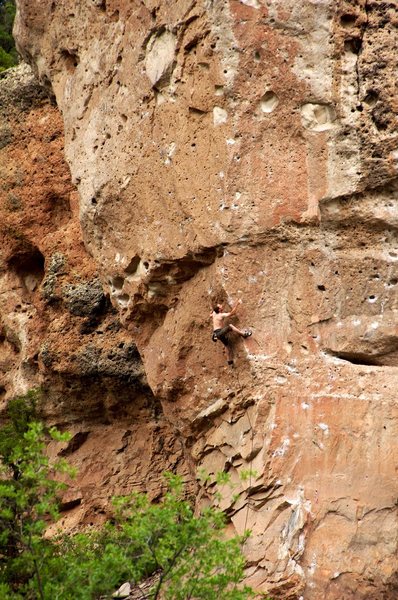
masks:
[[[31,392],[10,402],[9,423],[0,429],[0,586],[11,585],[26,598],[32,586],[37,594],[31,597],[44,598],[40,565],[52,546],[44,532],[58,518],[56,498],[65,487],[53,474],[70,471],[65,461],[50,464],[45,454],[48,436],[57,441],[69,436],[31,421],[37,398]]]

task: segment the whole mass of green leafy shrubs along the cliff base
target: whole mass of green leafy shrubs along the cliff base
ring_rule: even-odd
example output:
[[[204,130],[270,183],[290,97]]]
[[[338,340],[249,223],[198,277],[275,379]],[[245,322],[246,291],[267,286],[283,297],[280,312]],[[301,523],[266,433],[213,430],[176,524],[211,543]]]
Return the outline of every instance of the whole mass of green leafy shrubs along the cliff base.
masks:
[[[49,439],[67,434],[35,418],[36,395],[9,404],[0,428],[0,598],[91,600],[111,598],[124,582],[137,585],[155,574],[147,598],[243,600],[241,538],[225,539],[224,517],[212,508],[196,517],[183,483],[167,474],[168,491],[151,504],[145,494],[115,500],[112,522],[101,530],[46,539],[58,518],[57,496],[69,473],[50,462]]]

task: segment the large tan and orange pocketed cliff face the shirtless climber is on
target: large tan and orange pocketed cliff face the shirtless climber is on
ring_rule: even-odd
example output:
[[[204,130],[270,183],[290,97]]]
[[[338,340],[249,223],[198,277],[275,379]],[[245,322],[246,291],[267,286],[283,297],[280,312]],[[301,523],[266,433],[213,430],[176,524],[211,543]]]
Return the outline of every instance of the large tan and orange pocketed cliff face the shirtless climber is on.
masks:
[[[396,598],[395,3],[43,7],[18,2],[16,35],[63,115],[90,290],[95,271],[188,460],[241,489],[249,583]],[[208,313],[239,296],[231,371]]]

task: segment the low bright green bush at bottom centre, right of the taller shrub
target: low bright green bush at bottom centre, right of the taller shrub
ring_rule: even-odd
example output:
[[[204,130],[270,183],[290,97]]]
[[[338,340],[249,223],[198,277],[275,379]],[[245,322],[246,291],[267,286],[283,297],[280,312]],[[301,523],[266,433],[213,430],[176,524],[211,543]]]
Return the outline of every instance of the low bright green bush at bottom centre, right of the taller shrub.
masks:
[[[43,598],[110,597],[124,581],[158,573],[156,600],[245,600],[242,538],[225,539],[224,516],[208,508],[195,516],[181,478],[167,474],[168,492],[151,504],[145,494],[117,498],[114,521],[102,530],[63,537],[46,561]]]

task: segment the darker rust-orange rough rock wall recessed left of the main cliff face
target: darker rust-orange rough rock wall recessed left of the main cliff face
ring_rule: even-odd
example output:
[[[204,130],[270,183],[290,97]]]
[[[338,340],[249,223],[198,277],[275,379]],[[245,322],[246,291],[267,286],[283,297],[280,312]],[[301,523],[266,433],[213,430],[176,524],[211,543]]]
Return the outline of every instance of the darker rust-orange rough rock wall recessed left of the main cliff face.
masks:
[[[84,249],[62,119],[26,65],[0,79],[0,131],[0,408],[41,387],[73,436],[53,451],[79,468],[63,523],[95,523],[112,495],[156,497],[165,469],[185,472],[181,444]]]

